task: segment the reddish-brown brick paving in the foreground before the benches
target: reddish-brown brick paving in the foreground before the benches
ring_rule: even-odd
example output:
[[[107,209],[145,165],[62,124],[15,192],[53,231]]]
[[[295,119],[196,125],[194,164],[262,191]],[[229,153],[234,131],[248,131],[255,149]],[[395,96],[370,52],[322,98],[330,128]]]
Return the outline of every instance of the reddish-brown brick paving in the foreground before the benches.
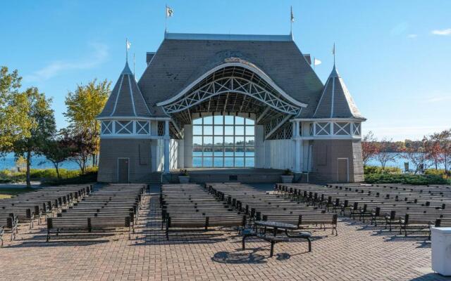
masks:
[[[20,227],[18,240],[0,249],[0,280],[447,280],[431,272],[424,237],[393,237],[353,221],[314,232],[306,242],[241,240],[233,230],[171,235],[161,230],[156,194],[144,199],[137,231],[52,237],[45,228]],[[76,238],[76,239],[75,239]]]

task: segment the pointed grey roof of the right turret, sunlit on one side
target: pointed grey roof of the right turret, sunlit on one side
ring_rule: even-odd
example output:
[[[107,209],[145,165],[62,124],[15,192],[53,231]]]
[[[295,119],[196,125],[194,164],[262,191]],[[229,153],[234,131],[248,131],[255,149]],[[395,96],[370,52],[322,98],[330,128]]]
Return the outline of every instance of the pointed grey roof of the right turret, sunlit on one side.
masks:
[[[359,112],[352,96],[335,64],[326,81],[316,107],[314,118],[358,118],[365,119]]]

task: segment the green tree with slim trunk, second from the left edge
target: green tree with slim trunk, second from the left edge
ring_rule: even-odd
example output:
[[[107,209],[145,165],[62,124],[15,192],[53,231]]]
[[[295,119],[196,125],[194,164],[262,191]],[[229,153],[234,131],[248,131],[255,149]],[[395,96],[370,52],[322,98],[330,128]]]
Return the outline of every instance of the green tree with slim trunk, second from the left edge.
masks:
[[[30,124],[29,134],[19,136],[13,143],[13,152],[16,157],[27,159],[27,186],[30,186],[30,164],[32,155],[42,154],[45,143],[56,133],[54,110],[51,109],[51,99],[44,93],[39,93],[35,87],[27,89],[21,96],[19,107],[26,105],[26,122]]]

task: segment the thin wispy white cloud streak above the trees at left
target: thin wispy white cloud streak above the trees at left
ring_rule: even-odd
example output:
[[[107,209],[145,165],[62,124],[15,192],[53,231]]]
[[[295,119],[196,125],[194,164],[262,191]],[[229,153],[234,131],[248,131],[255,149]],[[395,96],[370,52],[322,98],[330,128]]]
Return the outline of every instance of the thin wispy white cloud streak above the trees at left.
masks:
[[[67,70],[87,70],[104,63],[106,58],[108,58],[108,46],[98,43],[89,45],[93,48],[93,53],[88,58],[79,60],[55,60],[33,74],[25,76],[24,80],[28,82],[44,81]]]

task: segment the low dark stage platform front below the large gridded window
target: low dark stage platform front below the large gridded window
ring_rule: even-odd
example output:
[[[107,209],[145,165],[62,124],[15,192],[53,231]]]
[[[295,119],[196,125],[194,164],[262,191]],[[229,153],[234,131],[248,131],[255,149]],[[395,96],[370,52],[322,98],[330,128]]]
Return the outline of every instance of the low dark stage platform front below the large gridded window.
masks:
[[[284,170],[261,168],[187,168],[192,183],[279,183]],[[180,169],[171,170],[166,178],[178,183]]]

